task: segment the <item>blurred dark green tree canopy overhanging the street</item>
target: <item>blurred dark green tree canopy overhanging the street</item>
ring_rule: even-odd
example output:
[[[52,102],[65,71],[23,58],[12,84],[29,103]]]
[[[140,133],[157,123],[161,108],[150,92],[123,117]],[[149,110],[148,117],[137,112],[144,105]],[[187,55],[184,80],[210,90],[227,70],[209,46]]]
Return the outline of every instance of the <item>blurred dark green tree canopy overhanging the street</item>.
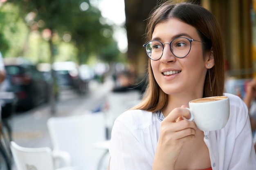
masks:
[[[64,35],[71,36],[71,39],[65,41],[73,44],[74,49],[71,51],[76,52],[70,58],[74,60],[73,58],[76,57],[75,60],[80,64],[85,63],[91,53],[96,54],[103,61],[118,60],[120,52],[112,38],[112,27],[100,23],[101,12],[91,6],[88,0],[9,0],[8,2],[19,7],[17,11],[32,30],[42,32],[48,28],[58,34],[57,41],[52,38],[55,49],[53,54],[55,57],[58,56],[58,60],[63,54],[58,50],[63,48],[57,46],[63,45]],[[8,43],[5,48],[8,48]]]

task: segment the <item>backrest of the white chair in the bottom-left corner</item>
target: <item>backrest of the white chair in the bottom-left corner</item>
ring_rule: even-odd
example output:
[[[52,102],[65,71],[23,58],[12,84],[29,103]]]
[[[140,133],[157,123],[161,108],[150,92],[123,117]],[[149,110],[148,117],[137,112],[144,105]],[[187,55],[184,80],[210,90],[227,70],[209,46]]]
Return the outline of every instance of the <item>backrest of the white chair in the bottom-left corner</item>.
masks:
[[[17,170],[54,170],[50,148],[25,148],[13,141],[10,148]]]

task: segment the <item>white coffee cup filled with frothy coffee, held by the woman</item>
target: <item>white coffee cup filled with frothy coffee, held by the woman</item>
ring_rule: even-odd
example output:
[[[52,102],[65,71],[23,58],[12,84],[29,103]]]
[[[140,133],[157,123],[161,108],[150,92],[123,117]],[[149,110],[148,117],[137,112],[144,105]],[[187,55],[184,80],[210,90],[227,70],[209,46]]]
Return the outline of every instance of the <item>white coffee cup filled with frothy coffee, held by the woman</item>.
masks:
[[[190,118],[201,131],[222,129],[229,120],[229,98],[213,96],[189,102]],[[186,118],[184,118],[186,119]]]

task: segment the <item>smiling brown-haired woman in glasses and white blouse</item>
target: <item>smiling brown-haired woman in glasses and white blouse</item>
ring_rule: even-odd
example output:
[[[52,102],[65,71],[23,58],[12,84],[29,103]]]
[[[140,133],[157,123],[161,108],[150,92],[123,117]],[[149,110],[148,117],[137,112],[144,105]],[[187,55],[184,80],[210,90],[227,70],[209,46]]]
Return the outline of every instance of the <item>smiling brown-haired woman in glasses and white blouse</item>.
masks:
[[[166,2],[150,15],[148,88],[139,105],[112,129],[110,170],[241,170],[256,167],[247,107],[224,92],[220,26],[206,9]],[[228,96],[229,121],[200,131],[189,118],[189,101]],[[210,109],[210,108],[209,108]]]

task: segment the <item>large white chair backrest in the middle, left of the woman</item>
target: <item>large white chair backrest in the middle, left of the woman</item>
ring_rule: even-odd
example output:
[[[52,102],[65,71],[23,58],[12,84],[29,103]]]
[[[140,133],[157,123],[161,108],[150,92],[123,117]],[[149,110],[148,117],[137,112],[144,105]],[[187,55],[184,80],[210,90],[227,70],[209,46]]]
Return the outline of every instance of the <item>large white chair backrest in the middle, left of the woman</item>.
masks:
[[[68,117],[52,117],[47,121],[54,150],[70,153],[72,166],[81,170],[97,170],[104,150],[94,148],[106,139],[102,112]]]

